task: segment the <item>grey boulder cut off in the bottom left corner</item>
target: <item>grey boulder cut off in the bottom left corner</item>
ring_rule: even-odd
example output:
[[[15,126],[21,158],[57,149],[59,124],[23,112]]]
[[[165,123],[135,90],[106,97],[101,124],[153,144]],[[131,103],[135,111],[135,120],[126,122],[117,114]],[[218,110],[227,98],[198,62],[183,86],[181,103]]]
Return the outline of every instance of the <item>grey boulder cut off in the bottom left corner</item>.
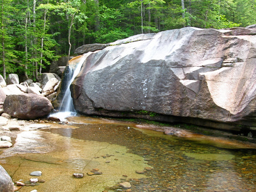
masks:
[[[14,185],[10,175],[0,165],[0,191],[1,192],[13,192]]]

